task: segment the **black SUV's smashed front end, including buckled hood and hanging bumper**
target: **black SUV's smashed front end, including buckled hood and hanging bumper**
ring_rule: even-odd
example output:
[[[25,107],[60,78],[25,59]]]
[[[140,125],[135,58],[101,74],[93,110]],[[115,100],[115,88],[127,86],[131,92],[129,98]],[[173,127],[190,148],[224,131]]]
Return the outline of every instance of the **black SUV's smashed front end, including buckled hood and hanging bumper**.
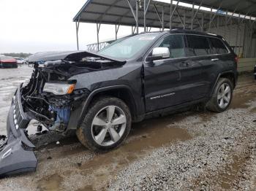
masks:
[[[0,177],[35,171],[35,146],[27,130],[31,120],[62,134],[77,128],[90,91],[76,88],[77,80],[71,77],[121,64],[89,52],[35,55],[30,63],[34,71],[29,83],[21,84],[12,98],[7,117],[8,139],[0,136]]]

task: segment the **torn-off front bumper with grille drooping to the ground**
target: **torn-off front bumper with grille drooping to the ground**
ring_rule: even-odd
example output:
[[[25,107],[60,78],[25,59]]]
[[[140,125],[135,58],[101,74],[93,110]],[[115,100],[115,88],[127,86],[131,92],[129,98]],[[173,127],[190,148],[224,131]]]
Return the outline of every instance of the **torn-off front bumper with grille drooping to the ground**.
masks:
[[[24,132],[29,122],[29,117],[23,112],[20,87],[18,87],[7,117],[8,139],[0,145],[0,177],[36,170],[34,144]]]

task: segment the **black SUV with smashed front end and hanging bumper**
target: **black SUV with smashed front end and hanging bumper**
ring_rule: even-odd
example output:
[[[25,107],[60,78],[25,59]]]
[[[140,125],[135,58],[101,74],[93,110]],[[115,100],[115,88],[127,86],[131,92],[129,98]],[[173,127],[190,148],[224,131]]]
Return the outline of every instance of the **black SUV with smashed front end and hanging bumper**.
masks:
[[[146,117],[202,103],[225,111],[238,78],[237,56],[222,36],[186,30],[127,36],[97,53],[39,53],[29,62],[34,72],[12,99],[0,157],[12,147],[31,151],[32,119],[48,130],[76,130],[89,149],[113,149]]]

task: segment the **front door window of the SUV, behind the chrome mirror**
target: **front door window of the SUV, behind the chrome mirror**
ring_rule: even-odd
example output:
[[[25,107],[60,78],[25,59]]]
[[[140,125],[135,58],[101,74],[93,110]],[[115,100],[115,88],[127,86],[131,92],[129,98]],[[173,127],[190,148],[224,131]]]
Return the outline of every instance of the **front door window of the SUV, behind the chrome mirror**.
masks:
[[[167,47],[170,51],[170,58],[182,58],[186,56],[184,36],[181,34],[166,36],[158,42],[157,47]]]

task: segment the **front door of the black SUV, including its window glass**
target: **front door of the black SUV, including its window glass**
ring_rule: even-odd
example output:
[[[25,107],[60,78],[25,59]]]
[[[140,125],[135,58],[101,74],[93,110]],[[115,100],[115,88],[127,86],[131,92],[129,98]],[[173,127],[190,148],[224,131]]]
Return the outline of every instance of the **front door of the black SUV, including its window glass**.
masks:
[[[200,82],[200,66],[187,58],[184,35],[164,36],[155,47],[168,47],[170,58],[144,63],[146,112],[192,101]]]

